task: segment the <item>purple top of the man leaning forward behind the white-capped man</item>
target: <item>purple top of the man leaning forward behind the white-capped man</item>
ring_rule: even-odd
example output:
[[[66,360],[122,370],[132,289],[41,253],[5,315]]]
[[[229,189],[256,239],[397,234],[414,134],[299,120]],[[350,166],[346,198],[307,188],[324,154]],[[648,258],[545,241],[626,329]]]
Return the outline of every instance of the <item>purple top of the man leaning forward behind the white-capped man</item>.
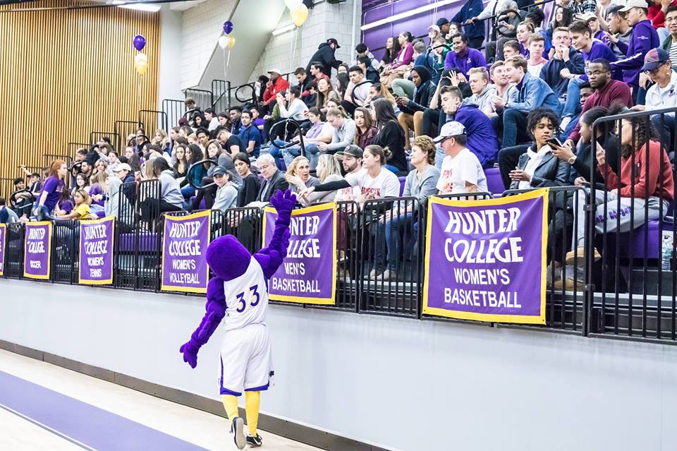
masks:
[[[447,118],[447,121],[452,120]],[[463,104],[456,111],[453,121],[465,126],[468,143],[465,144],[470,152],[477,156],[482,167],[492,167],[499,154],[499,140],[492,121],[480,111],[475,104]]]

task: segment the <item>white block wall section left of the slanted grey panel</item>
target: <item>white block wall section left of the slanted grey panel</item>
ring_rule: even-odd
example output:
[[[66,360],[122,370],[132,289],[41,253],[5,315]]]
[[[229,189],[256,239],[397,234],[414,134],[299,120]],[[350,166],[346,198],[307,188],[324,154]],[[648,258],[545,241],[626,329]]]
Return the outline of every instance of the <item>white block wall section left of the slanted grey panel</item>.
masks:
[[[181,66],[182,90],[200,83],[221,36],[221,27],[230,19],[237,3],[237,0],[207,0],[183,12],[183,59],[176,61],[176,66]]]

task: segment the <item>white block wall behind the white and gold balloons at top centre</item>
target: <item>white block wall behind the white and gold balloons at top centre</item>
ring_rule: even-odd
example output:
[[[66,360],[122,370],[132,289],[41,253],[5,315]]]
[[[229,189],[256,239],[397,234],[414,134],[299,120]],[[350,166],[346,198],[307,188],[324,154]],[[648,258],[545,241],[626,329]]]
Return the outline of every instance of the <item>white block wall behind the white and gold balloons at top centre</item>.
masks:
[[[357,13],[353,26],[353,2],[357,2]],[[317,46],[330,37],[335,37],[341,49],[336,51],[336,59],[350,63],[355,56],[353,51],[353,31],[355,45],[360,42],[360,13],[362,0],[348,0],[343,4],[316,2],[310,10],[307,20],[301,28],[271,36],[264,53],[252,71],[250,81],[256,80],[271,68],[279,68],[283,73],[293,72],[304,67],[317,50]],[[291,25],[289,11],[285,11],[276,29]],[[293,81],[293,76],[290,78]],[[295,81],[294,81],[295,83]]]

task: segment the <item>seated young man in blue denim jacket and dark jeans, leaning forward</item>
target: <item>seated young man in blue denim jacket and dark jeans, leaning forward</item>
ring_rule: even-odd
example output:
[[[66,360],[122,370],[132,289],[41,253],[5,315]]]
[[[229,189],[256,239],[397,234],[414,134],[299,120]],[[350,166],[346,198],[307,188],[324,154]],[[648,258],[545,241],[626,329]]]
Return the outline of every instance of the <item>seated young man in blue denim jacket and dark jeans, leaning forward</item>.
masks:
[[[527,61],[520,56],[506,61],[506,73],[516,89],[511,90],[508,102],[496,97],[494,108],[503,119],[503,147],[511,147],[529,140],[526,134],[527,114],[538,107],[559,112],[559,100],[540,78],[527,72]]]

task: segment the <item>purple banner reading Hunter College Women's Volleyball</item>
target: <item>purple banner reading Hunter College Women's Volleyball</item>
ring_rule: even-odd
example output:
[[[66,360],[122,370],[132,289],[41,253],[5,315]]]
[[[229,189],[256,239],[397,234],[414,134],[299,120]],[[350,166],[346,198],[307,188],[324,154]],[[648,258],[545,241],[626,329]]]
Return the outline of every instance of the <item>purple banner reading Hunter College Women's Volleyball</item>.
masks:
[[[165,216],[162,240],[162,285],[166,291],[206,293],[209,266],[210,210],[188,216]]]

